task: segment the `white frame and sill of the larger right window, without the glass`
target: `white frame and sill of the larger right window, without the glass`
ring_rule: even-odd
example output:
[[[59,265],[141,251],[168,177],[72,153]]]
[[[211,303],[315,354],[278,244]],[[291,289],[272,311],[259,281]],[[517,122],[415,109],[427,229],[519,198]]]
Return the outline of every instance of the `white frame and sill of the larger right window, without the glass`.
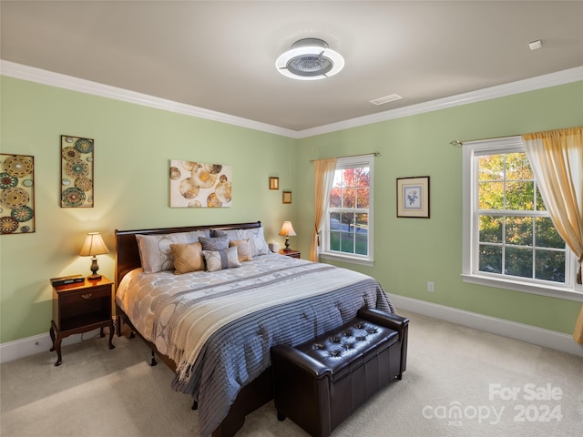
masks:
[[[462,249],[462,279],[464,282],[496,287],[507,290],[517,290],[553,298],[577,300],[583,302],[583,290],[575,283],[577,257],[566,246],[565,250],[565,283],[559,284],[542,279],[505,277],[496,273],[479,271],[477,266],[477,247],[479,246],[479,224],[477,214],[478,168],[476,157],[503,153],[526,153],[522,137],[502,137],[478,141],[468,141],[463,144],[463,249]],[[487,152],[487,153],[486,153]],[[547,217],[546,214],[535,212],[534,215]]]

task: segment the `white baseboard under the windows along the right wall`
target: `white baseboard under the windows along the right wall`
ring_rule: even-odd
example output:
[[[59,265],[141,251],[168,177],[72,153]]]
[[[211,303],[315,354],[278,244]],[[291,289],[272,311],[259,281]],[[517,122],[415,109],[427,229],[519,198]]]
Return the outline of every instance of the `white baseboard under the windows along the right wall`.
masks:
[[[583,357],[583,345],[573,340],[572,336],[562,332],[545,330],[535,326],[517,323],[516,321],[496,319],[495,317],[465,310],[457,310],[452,307],[446,307],[445,305],[407,298],[396,294],[391,295],[391,302],[393,302],[394,307],[397,309],[416,312],[417,314],[435,319],[449,321],[476,330],[484,330],[510,339],[526,341],[537,346]]]

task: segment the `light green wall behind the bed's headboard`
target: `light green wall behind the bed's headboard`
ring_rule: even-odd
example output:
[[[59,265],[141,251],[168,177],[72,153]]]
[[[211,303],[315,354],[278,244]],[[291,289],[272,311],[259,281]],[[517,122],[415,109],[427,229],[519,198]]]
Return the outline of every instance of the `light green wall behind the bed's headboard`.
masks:
[[[1,77],[0,151],[35,158],[36,232],[0,237],[1,342],[48,332],[50,278],[90,274],[85,235],[112,251],[99,272],[114,279],[115,229],[261,220],[268,241],[295,205],[297,141],[53,86]],[[60,136],[95,139],[95,208],[60,208]],[[231,208],[169,208],[169,159],[232,166]],[[270,176],[280,190],[270,190]]]

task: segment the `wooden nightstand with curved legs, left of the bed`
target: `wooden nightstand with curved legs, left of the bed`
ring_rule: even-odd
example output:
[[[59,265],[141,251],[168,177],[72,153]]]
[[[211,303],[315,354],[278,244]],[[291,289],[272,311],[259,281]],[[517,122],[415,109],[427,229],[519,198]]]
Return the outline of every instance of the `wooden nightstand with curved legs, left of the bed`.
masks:
[[[113,319],[111,317],[113,282],[105,276],[97,280],[85,279],[78,284],[53,287],[53,320],[50,335],[51,351],[56,351],[55,365],[61,362],[61,340],[71,334],[109,327],[109,349],[114,349]]]

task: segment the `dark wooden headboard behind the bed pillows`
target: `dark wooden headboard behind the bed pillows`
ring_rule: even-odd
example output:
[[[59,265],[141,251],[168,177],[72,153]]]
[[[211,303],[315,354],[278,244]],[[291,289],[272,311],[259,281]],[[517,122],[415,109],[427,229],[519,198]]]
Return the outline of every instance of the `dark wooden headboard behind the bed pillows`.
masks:
[[[261,227],[261,221],[250,223],[233,223],[227,225],[204,225],[204,226],[184,226],[181,228],[159,228],[159,229],[137,229],[118,230],[116,229],[116,289],[119,282],[129,271],[141,267],[139,259],[138,240],[136,234],[173,234],[175,232],[189,232],[191,230],[203,229],[253,229]]]

